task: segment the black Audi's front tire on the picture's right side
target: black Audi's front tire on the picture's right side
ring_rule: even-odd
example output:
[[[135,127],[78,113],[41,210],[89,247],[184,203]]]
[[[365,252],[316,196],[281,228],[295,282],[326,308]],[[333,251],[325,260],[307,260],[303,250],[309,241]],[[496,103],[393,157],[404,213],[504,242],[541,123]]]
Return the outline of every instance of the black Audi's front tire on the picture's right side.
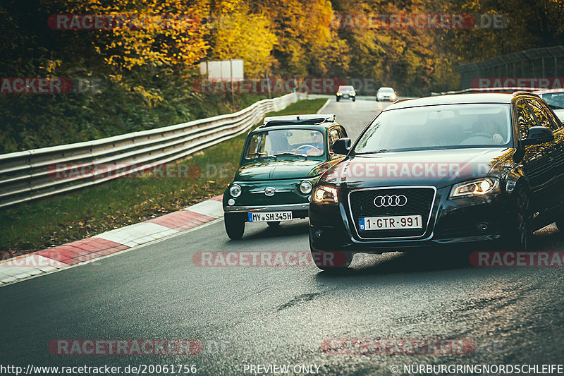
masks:
[[[507,231],[509,244],[513,248],[510,250],[531,250],[533,214],[529,192],[524,186],[516,190],[515,211],[512,217],[511,228]]]

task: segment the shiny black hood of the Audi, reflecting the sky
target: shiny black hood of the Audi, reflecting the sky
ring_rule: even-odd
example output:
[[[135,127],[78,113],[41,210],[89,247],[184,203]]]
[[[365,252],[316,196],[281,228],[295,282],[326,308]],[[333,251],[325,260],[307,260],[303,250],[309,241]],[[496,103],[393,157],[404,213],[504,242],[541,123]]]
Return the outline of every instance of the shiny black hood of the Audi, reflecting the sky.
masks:
[[[350,188],[436,186],[443,188],[489,174],[513,149],[463,148],[386,152],[348,157],[321,176],[321,183]]]

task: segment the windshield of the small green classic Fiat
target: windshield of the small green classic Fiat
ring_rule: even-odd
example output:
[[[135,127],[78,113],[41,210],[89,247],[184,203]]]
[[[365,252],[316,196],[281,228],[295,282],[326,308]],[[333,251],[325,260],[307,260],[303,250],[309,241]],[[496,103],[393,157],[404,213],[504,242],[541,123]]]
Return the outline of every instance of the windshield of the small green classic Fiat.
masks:
[[[245,159],[265,157],[321,157],[323,133],[311,129],[276,129],[254,133],[245,149]]]

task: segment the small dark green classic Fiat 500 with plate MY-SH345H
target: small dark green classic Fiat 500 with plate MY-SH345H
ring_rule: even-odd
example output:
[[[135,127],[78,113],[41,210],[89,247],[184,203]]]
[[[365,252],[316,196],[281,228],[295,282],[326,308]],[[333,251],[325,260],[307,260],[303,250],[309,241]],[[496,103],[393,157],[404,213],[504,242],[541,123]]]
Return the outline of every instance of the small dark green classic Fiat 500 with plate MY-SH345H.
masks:
[[[312,186],[343,159],[333,142],[347,137],[334,114],[274,116],[250,131],[240,167],[223,194],[225,229],[240,239],[245,222],[280,222],[307,217]]]

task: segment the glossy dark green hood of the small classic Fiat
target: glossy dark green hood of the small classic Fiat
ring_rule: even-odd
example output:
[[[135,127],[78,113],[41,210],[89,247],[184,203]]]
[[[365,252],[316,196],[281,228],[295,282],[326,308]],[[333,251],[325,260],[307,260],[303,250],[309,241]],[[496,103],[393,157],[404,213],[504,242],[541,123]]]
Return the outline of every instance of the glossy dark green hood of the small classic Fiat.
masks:
[[[329,162],[319,159],[266,159],[240,166],[235,181],[259,181],[269,179],[309,178],[329,168]]]

